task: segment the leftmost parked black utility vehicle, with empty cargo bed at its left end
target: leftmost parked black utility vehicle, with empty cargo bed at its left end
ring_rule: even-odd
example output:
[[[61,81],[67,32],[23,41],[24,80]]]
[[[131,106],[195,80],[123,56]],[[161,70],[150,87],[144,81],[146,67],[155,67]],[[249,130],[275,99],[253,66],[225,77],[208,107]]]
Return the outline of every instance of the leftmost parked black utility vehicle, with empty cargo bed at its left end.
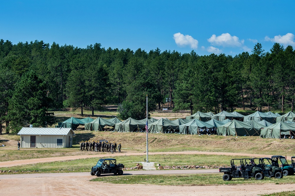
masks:
[[[238,164],[238,166],[235,164]],[[256,180],[263,180],[264,175],[261,168],[257,167],[254,160],[251,159],[232,159],[231,167],[221,167],[219,172],[224,172],[223,180],[232,180],[232,178],[249,179],[255,177]]]

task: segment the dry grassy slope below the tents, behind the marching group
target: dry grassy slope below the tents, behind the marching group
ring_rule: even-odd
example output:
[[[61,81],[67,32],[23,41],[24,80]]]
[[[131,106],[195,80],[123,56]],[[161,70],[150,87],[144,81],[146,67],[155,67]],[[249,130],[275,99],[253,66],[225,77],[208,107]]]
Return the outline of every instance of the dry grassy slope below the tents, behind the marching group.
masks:
[[[81,140],[106,139],[121,142],[122,152],[144,152],[146,150],[145,133],[90,132],[75,131],[73,148],[63,149],[21,149],[16,143],[1,147],[0,161],[32,159],[42,157],[60,157],[70,155],[92,155],[99,152],[79,152]],[[5,135],[3,136],[5,137]],[[1,139],[3,139],[3,137]],[[19,136],[18,136],[19,137]],[[224,137],[217,135],[149,134],[149,152],[205,151],[237,152],[266,155],[294,156],[295,144],[292,139],[270,139],[255,137]],[[106,153],[107,154],[107,153]],[[109,155],[106,155],[109,156]]]

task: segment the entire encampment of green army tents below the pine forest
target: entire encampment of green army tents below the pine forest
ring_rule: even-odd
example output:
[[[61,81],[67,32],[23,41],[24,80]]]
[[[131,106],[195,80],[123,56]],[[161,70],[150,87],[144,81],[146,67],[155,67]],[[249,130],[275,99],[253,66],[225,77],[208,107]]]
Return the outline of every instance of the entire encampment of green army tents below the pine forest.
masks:
[[[148,119],[148,132],[180,134],[205,133],[235,136],[260,135],[261,137],[267,138],[280,138],[281,135],[294,136],[295,113],[288,112],[282,116],[271,112],[268,112],[268,114],[255,112],[251,115],[243,116],[237,112],[228,113],[223,111],[216,115],[212,112],[196,112],[186,117],[186,119],[180,118],[172,121],[166,118],[151,118]],[[208,116],[210,116],[211,119],[208,120]],[[242,120],[244,120],[244,122],[242,122]],[[118,118],[103,119],[100,117],[95,120],[88,118],[90,122],[87,123],[82,121],[83,119],[71,117],[62,123],[62,127],[72,126],[72,129],[76,129],[76,127],[81,124],[85,125],[85,130],[92,131],[102,131],[105,127],[111,127],[117,132],[143,132],[145,131],[146,124],[146,119],[136,120],[132,118],[128,118],[122,122]],[[275,123],[276,121],[278,122]]]

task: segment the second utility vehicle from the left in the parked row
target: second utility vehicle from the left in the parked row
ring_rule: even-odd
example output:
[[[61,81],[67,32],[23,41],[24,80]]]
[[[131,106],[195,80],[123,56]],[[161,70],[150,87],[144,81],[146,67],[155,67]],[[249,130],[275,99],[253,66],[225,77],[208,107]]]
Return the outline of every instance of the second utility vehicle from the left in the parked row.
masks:
[[[275,162],[271,158],[254,158],[252,159],[259,162],[257,167],[261,168],[265,177],[282,178],[283,171],[280,167],[277,167]]]

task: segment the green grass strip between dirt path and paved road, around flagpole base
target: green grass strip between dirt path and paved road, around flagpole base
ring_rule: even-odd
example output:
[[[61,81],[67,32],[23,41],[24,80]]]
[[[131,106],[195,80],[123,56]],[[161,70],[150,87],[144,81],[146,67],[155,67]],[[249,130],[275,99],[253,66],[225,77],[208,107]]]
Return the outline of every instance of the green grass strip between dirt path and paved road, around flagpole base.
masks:
[[[142,162],[144,156],[116,156],[117,163],[122,163],[127,167],[135,167],[136,162]],[[106,155],[104,158],[113,158]],[[222,166],[230,165],[230,160],[233,158],[242,158],[237,156],[224,155],[149,155],[150,162],[156,162],[155,166],[183,166],[183,165],[199,165],[199,166]],[[90,172],[91,167],[96,165],[99,158],[86,158],[67,161],[55,161],[47,163],[35,163],[32,165],[20,165],[14,167],[2,167],[0,170],[11,171],[30,171],[30,173],[56,173],[56,172]],[[38,172],[33,172],[38,171]],[[17,172],[17,173],[19,173]],[[0,174],[17,174],[17,173],[0,173]]]

